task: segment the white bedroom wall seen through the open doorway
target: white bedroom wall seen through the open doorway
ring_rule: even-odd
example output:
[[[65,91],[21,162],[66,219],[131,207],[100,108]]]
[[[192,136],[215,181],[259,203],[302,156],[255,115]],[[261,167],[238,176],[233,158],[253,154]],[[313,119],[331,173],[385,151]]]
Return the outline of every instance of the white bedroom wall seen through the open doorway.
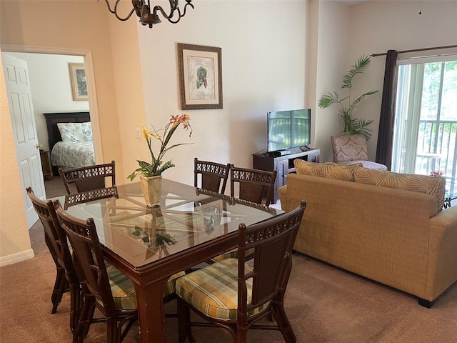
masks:
[[[26,54],[9,52],[27,62],[36,133],[44,150],[49,150],[44,113],[89,111],[89,101],[74,101],[71,94],[69,63],[84,63],[82,56]]]

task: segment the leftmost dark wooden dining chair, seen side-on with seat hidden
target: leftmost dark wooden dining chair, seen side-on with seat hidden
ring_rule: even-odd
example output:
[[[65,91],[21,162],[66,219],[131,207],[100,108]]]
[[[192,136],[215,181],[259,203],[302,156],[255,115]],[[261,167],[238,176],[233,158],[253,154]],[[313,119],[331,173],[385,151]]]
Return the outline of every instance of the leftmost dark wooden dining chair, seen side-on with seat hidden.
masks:
[[[51,296],[52,310],[56,313],[64,292],[70,292],[70,328],[73,332],[73,342],[76,342],[76,327],[81,312],[81,287],[72,262],[71,252],[64,229],[61,228],[57,219],[56,210],[51,200],[46,202],[37,198],[31,187],[26,189],[36,213],[44,227],[44,241],[56,264],[57,274],[54,282],[54,290]]]

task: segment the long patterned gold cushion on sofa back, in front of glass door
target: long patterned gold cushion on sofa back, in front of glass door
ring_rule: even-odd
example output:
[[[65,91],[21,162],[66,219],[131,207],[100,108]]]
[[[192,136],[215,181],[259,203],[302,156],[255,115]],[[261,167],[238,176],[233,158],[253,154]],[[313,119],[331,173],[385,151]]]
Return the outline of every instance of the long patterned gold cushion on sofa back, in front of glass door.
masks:
[[[376,186],[430,194],[436,197],[438,212],[443,208],[446,185],[446,179],[443,177],[428,177],[426,175],[401,174],[361,168],[354,171],[354,181],[362,184],[374,184]]]

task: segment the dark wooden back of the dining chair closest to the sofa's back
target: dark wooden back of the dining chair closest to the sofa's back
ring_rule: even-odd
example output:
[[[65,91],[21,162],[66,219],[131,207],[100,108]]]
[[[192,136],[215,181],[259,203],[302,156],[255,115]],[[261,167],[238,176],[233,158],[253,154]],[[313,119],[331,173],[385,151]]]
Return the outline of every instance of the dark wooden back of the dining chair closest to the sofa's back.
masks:
[[[292,269],[292,249],[306,202],[287,214],[258,224],[238,228],[238,312],[237,331],[246,338],[248,312],[271,302],[277,322],[287,322],[283,297]],[[254,249],[253,270],[246,272],[246,253]],[[251,254],[251,252],[249,252]],[[247,282],[252,279],[251,302]],[[283,318],[281,318],[283,316]],[[254,318],[251,318],[254,319]],[[254,319],[255,320],[255,319]],[[283,332],[284,334],[284,332]],[[292,332],[293,334],[293,332]],[[287,339],[286,339],[287,341]],[[243,342],[242,339],[240,342]]]

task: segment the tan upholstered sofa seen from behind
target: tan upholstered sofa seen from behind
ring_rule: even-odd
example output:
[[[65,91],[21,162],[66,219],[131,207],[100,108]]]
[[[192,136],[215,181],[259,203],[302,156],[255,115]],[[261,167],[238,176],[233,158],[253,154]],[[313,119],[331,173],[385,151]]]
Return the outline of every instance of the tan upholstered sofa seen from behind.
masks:
[[[282,209],[308,202],[294,250],[401,289],[431,307],[457,280],[457,206],[441,210],[444,180],[424,177],[436,179],[431,181],[438,189],[426,194],[397,189],[411,188],[408,178],[400,187],[375,185],[382,182],[367,178],[368,169],[354,168],[349,177],[347,170],[343,177],[288,174],[278,190]],[[392,175],[398,176],[384,178]],[[420,188],[419,181],[413,184]]]

